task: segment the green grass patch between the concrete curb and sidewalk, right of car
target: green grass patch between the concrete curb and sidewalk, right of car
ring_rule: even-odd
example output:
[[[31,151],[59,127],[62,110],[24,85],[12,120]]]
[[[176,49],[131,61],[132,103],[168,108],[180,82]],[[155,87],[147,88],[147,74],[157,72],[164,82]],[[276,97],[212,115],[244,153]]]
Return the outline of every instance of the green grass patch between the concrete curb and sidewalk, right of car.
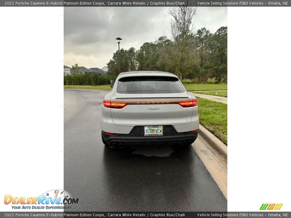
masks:
[[[199,122],[227,144],[227,104],[197,97]]]

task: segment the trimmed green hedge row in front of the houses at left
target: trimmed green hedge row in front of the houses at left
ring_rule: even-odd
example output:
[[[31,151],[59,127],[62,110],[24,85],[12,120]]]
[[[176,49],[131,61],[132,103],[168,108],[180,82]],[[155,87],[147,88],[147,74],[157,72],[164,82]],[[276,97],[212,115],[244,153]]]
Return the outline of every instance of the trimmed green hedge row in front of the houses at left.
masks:
[[[64,85],[107,85],[116,77],[105,77],[98,74],[64,75]]]

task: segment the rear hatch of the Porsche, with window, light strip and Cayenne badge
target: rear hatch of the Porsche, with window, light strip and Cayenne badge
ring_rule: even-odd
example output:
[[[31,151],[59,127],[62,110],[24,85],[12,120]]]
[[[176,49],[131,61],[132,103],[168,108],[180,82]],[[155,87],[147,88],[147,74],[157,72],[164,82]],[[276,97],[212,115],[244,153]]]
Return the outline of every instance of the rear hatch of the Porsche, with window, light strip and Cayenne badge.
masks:
[[[111,102],[114,124],[120,126],[183,125],[191,122],[193,107],[180,104],[192,101],[176,77],[126,77],[117,83]]]

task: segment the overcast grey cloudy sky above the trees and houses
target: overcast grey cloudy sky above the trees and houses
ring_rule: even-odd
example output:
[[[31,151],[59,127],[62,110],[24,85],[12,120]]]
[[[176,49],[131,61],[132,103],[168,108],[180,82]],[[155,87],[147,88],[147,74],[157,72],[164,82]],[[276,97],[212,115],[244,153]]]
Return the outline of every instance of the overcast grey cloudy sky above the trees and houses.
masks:
[[[64,64],[103,68],[113,52],[170,38],[172,7],[64,7]],[[202,27],[215,33],[227,26],[227,7],[198,7],[193,18],[196,30]]]

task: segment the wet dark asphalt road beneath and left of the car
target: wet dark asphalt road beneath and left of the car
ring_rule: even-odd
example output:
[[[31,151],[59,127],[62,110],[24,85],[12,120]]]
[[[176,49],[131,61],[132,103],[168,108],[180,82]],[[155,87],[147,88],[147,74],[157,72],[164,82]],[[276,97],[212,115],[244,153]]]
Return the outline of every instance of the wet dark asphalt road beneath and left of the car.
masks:
[[[227,200],[191,146],[105,147],[107,91],[64,90],[64,189],[71,211],[226,211]]]

